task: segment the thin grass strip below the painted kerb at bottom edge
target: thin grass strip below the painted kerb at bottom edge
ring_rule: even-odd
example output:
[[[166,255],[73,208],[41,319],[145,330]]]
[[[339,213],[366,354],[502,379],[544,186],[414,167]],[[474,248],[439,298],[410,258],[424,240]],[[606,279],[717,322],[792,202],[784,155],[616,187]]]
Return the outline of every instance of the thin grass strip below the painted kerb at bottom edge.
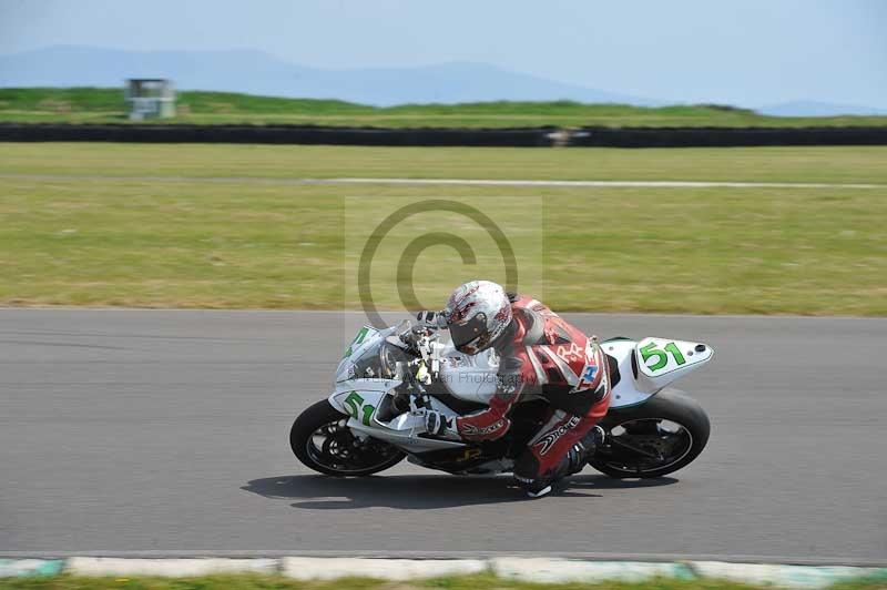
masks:
[[[279,576],[212,576],[203,578],[77,578],[55,576],[48,578],[0,579],[0,590],[753,590],[762,587],[721,580],[677,581],[657,579],[643,583],[559,583],[540,584],[507,581],[489,574],[462,578],[437,578],[412,582],[384,582],[363,578],[334,581],[295,581]],[[877,590],[887,588],[884,581],[854,581],[832,587],[833,590]]]

